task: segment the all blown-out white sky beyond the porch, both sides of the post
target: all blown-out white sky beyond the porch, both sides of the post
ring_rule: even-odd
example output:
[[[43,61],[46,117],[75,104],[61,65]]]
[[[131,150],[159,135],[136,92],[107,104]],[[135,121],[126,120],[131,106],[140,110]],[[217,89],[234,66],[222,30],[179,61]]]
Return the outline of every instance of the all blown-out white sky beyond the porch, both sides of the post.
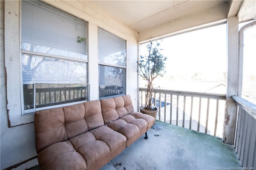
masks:
[[[245,24],[247,23],[240,24],[239,29]],[[244,35],[243,90],[254,91],[256,94],[256,27],[248,29]],[[162,48],[161,53],[167,57],[166,74],[164,79],[158,79],[158,82],[155,82],[157,87],[165,85],[164,88],[172,89],[174,85],[171,84],[181,80],[226,81],[226,24],[172,36],[157,42],[160,43],[160,48]],[[146,54],[145,47],[146,44],[141,45],[140,55]],[[198,77],[194,77],[195,75],[198,75]],[[173,79],[173,81],[169,81],[170,79]],[[170,85],[166,86],[168,83]],[[179,88],[177,85],[175,87]]]

